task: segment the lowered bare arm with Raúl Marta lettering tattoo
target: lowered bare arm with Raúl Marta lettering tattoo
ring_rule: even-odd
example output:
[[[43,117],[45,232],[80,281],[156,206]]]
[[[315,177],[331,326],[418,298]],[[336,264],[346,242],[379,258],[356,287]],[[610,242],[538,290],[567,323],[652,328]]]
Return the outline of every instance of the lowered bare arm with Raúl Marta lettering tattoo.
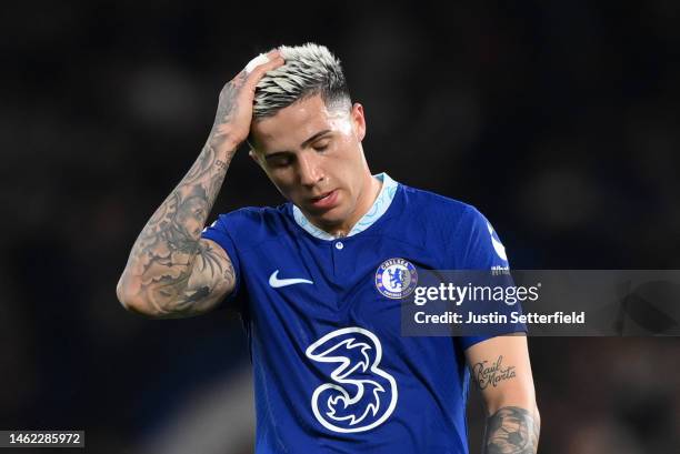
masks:
[[[524,335],[489,339],[466,351],[487,411],[483,454],[534,454],[540,415]]]

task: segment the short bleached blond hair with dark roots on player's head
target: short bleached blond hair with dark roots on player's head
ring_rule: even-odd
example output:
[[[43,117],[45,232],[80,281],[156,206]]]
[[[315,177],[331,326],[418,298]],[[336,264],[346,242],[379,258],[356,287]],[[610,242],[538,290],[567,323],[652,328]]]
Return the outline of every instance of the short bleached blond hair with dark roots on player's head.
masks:
[[[351,107],[340,60],[326,46],[308,42],[278,48],[286,63],[258,82],[254,120],[274,115],[297,101],[320,94],[326,107]]]

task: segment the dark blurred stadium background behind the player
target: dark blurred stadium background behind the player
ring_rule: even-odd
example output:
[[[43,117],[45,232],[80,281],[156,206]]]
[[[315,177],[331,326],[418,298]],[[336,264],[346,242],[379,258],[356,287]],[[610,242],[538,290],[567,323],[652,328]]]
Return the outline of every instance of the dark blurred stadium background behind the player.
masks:
[[[239,320],[143,320],[114,285],[222,84],[281,43],[333,50],[372,170],[477,205],[513,268],[680,268],[676,1],[2,10],[0,428],[84,428],[101,454],[251,452]],[[281,202],[244,152],[227,180],[213,216]],[[541,453],[680,452],[678,339],[530,347]],[[478,452],[478,400],[470,414]]]

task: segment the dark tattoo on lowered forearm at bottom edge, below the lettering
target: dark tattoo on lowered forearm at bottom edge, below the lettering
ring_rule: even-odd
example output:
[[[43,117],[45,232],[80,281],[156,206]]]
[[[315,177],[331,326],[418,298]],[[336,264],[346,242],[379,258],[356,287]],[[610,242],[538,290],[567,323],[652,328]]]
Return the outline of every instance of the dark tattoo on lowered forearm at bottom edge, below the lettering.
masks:
[[[503,406],[489,418],[483,454],[536,454],[540,421],[526,408]]]

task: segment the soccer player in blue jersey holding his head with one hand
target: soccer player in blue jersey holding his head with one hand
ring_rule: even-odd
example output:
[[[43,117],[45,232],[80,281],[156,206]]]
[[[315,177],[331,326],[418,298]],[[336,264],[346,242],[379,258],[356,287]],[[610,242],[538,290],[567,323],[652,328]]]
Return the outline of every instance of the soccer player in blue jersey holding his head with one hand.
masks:
[[[467,453],[470,373],[488,413],[484,452],[536,453],[523,333],[400,334],[399,296],[414,266],[507,269],[498,236],[470,205],[372,175],[366,131],[327,48],[254,59],[222,89],[198,160],[137,239],[119,300],[152,317],[240,312],[258,454]],[[288,203],[221,214],[204,229],[247,140]]]

